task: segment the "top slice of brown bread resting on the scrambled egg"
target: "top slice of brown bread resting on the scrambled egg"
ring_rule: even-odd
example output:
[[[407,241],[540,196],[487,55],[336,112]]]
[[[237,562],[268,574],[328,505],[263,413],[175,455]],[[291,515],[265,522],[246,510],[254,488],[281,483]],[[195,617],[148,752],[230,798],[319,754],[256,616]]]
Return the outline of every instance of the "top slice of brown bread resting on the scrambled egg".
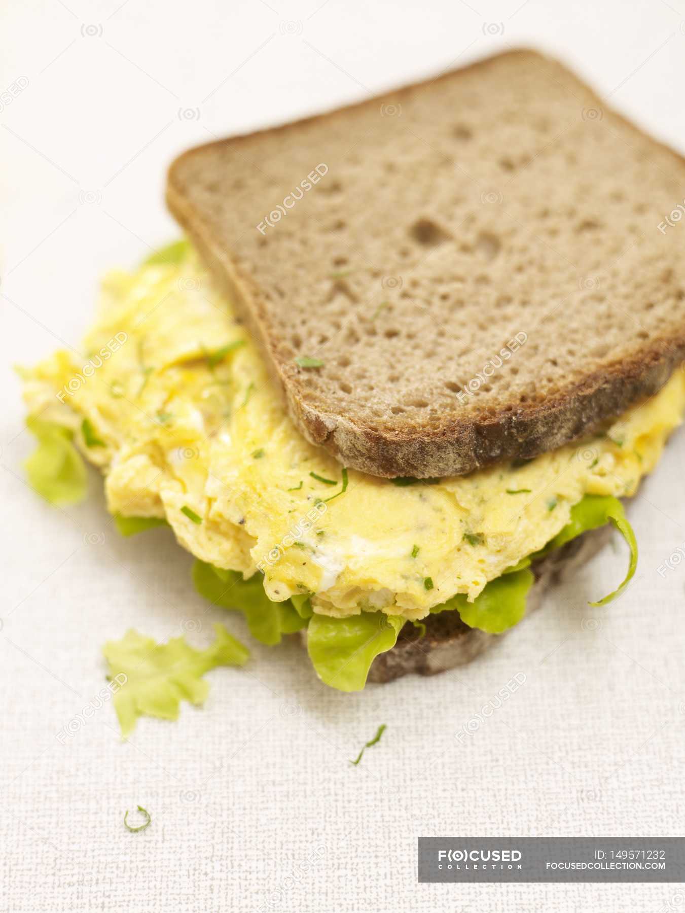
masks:
[[[655,393],[685,357],[684,198],[679,155],[525,50],[168,183],[302,434],[385,477],[535,456]]]

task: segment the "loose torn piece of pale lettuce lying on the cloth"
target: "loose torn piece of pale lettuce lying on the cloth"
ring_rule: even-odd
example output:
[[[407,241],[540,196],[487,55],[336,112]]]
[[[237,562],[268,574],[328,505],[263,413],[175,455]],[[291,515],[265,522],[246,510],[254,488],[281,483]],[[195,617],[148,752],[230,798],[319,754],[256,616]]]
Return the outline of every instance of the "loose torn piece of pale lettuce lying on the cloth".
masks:
[[[157,644],[152,637],[130,629],[119,641],[102,648],[109,666],[108,678],[119,688],[114,708],[125,739],[139,717],[178,719],[182,700],[202,704],[209,685],[202,679],[215,666],[244,666],[250,652],[223,627],[215,624],[216,640],[196,650],[184,637]]]

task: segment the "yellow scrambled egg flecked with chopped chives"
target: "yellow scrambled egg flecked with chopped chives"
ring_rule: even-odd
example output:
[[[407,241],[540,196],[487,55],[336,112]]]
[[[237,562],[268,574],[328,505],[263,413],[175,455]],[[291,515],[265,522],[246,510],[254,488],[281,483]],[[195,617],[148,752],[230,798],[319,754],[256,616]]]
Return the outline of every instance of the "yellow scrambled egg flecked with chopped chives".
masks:
[[[584,495],[632,495],[685,409],[678,371],[603,435],[524,465],[401,486],[349,470],[343,491],[194,255],[110,274],[85,351],[28,373],[26,401],[74,429],[109,510],[165,518],[202,561],[263,571],[269,598],[314,593],[315,611],[338,617],[421,618],[455,593],[474,599]]]

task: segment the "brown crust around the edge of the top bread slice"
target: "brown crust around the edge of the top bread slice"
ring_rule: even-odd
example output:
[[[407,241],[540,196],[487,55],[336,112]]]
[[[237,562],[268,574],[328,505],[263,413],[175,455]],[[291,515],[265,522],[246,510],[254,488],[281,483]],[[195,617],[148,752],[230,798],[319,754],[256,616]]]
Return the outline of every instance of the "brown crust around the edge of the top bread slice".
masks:
[[[495,58],[513,55],[545,59],[535,51],[520,49],[476,61],[460,72],[483,67]],[[446,73],[432,81],[451,76],[453,73]],[[390,97],[401,98],[403,92],[413,88],[415,86],[408,86],[384,93],[371,102],[363,101],[346,109],[257,132],[263,136],[273,135],[277,139],[281,131],[296,130],[311,121],[326,121],[341,110],[378,104]],[[623,118],[620,120],[625,121]],[[209,143],[208,146],[225,142],[239,144],[254,135]],[[653,144],[668,149],[661,143]],[[213,236],[186,192],[182,178],[184,163],[205,148],[185,152],[171,163],[167,184],[167,203],[171,213],[191,236],[223,291],[249,324],[265,353],[270,373],[285,394],[288,412],[298,430],[310,443],[325,447],[346,467],[379,477],[445,477],[462,475],[497,461],[538,456],[591,433],[607,420],[625,413],[641,399],[656,394],[685,359],[683,328],[680,335],[670,333],[655,337],[632,358],[608,363],[579,382],[566,383],[542,402],[518,404],[514,408],[511,405],[508,408],[493,408],[488,415],[475,418],[464,415],[437,430],[429,425],[411,425],[400,420],[391,428],[377,428],[363,418],[357,420],[354,415],[343,415],[321,404],[312,404],[305,395],[303,372],[294,370],[292,361],[284,361],[279,353],[280,341],[274,338],[268,316],[260,304],[259,286],[236,262],[232,252],[223,248],[221,239]],[[676,152],[668,151],[680,163],[685,163],[685,159]]]

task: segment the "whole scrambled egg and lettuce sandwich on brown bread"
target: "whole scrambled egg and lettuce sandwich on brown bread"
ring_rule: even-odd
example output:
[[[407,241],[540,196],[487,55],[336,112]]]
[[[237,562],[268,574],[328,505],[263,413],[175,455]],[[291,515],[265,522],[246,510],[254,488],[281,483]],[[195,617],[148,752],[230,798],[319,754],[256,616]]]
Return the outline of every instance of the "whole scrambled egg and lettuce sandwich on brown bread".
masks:
[[[104,474],[343,691],[467,662],[628,543],[685,411],[685,163],[532,51],[171,164],[185,233],[24,371],[32,485]]]

